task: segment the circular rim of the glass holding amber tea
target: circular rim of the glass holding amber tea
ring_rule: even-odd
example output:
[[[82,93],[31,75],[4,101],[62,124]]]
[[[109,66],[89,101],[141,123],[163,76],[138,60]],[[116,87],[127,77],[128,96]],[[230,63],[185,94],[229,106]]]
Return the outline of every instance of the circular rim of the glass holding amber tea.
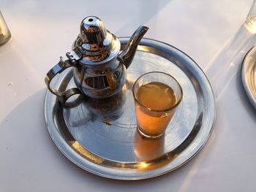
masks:
[[[164,110],[154,110],[154,109],[152,109],[152,108],[150,108],[150,107],[146,107],[146,106],[144,106],[143,104],[141,104],[140,101],[138,101],[137,97],[135,96],[135,91],[134,91],[134,90],[135,90],[135,84],[138,82],[138,80],[140,80],[141,77],[143,77],[143,76],[145,76],[145,75],[147,75],[147,74],[154,74],[154,73],[165,74],[165,75],[169,76],[170,78],[172,78],[172,79],[178,84],[178,88],[180,88],[180,90],[181,90],[181,96],[180,96],[180,98],[178,99],[178,101],[176,102],[176,104],[174,104],[172,107],[166,108],[166,109],[164,109]],[[175,108],[178,106],[178,104],[180,104],[180,102],[181,102],[181,100],[182,100],[182,98],[183,98],[183,90],[182,90],[181,85],[179,84],[179,82],[176,80],[176,78],[173,77],[173,76],[170,75],[170,74],[167,74],[167,73],[165,73],[165,72],[146,72],[146,73],[144,73],[144,74],[141,74],[140,77],[138,77],[138,79],[135,80],[135,82],[133,83],[133,85],[132,85],[132,95],[133,95],[133,98],[135,99],[135,101],[136,101],[138,104],[140,104],[141,107],[144,107],[144,108],[146,108],[147,110],[149,110],[149,111],[151,111],[151,112],[167,112],[167,111],[170,111],[170,110],[175,109]]]

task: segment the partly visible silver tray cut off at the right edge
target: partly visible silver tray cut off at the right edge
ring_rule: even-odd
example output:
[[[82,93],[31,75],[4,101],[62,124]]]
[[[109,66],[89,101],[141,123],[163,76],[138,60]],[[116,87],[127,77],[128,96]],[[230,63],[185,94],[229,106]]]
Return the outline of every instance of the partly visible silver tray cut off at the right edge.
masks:
[[[241,78],[249,101],[256,109],[256,46],[252,47],[244,58]]]

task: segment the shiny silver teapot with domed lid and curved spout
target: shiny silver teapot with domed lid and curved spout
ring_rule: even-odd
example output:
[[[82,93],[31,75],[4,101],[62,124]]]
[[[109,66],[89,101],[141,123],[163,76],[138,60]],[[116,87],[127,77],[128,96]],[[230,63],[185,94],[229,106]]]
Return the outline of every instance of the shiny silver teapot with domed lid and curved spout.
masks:
[[[118,93],[126,82],[126,69],[132,63],[138,43],[146,31],[148,27],[140,26],[120,53],[118,38],[105,28],[102,20],[94,16],[83,19],[80,34],[72,50],[66,53],[68,59],[64,61],[61,57],[45,76],[49,91],[62,103],[78,93],[94,99],[105,99]],[[73,78],[76,88],[61,92],[50,87],[53,77],[71,66],[75,67]]]

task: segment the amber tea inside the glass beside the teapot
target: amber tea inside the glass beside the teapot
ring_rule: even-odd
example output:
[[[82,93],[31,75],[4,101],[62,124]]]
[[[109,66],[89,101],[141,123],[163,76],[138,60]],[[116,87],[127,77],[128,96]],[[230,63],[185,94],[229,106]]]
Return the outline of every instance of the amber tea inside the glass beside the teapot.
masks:
[[[173,116],[174,111],[170,109],[177,103],[173,89],[162,82],[149,82],[140,86],[136,98],[143,105],[135,104],[140,131],[147,135],[161,134]]]

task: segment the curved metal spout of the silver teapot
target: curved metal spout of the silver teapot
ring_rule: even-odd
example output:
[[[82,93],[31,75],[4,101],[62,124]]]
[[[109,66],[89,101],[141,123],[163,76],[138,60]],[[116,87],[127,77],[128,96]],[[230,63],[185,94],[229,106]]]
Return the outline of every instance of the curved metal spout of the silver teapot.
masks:
[[[132,63],[140,39],[142,39],[143,35],[146,34],[146,31],[148,31],[148,27],[139,26],[134,34],[132,34],[132,37],[129,39],[129,42],[127,43],[124,50],[118,55],[118,58],[121,59],[127,68]]]

